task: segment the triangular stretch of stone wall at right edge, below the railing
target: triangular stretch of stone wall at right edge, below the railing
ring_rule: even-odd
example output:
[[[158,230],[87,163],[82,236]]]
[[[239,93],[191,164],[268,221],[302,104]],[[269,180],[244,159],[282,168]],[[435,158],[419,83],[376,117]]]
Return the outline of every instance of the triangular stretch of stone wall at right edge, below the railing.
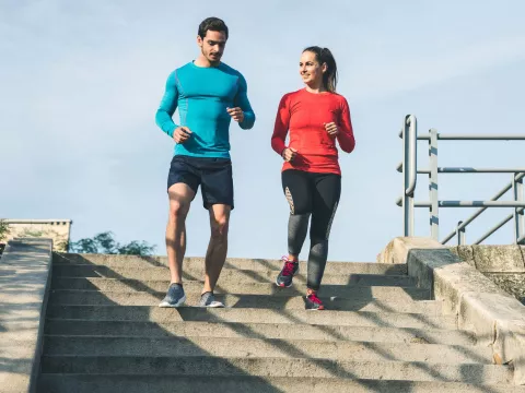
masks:
[[[456,246],[450,249],[525,305],[525,247]]]

